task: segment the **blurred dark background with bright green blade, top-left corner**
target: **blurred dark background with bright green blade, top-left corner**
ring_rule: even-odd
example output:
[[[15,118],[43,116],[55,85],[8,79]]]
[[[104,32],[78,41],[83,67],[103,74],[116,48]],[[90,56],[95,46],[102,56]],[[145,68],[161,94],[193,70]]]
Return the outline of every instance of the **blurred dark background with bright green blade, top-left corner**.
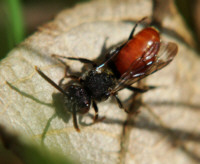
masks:
[[[62,9],[89,0],[0,0],[0,60]]]

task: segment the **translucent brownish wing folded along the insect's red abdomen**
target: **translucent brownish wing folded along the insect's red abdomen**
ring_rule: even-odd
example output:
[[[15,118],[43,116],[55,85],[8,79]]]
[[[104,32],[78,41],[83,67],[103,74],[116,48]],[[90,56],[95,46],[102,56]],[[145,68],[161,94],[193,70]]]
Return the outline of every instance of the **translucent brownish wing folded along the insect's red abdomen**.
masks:
[[[120,77],[120,79],[118,80],[118,84],[111,91],[111,93],[115,93],[125,88],[126,86],[129,86],[137,82],[138,80],[141,80],[146,76],[162,69],[173,60],[173,58],[177,54],[177,51],[178,46],[172,42],[161,42],[152,44],[150,48],[140,58],[132,63],[128,71]],[[155,54],[157,52],[158,54]],[[145,63],[147,57],[151,58],[153,56],[156,57],[155,60],[151,60],[151,62]],[[138,67],[140,65],[142,65],[142,67]]]

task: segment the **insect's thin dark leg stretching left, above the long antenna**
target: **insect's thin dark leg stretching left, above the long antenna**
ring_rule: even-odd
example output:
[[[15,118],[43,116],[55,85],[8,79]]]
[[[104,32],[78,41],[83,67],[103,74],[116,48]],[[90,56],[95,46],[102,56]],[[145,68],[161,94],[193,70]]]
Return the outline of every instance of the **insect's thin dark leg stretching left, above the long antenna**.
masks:
[[[68,59],[68,60],[76,60],[76,61],[79,61],[79,62],[84,63],[84,64],[92,64],[93,67],[96,67],[96,65],[97,65],[95,62],[88,60],[88,59],[85,59],[85,58],[66,57],[66,56],[60,56],[60,55],[55,55],[55,54],[52,55],[52,57],[57,58],[57,60],[59,60],[62,63],[64,63],[64,62],[59,58]]]

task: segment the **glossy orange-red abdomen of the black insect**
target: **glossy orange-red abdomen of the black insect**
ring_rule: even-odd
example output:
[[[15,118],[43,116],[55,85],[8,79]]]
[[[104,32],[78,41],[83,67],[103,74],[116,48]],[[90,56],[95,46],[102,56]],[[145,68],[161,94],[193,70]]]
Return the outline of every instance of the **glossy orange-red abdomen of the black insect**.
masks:
[[[155,42],[160,42],[159,33],[151,28],[145,28],[140,31],[138,34],[133,36],[133,39],[129,40],[128,43],[120,50],[118,55],[116,56],[114,63],[119,71],[120,75],[128,71],[131,67],[131,64],[144,55],[148,48]],[[155,53],[155,55],[157,52]],[[152,57],[146,62],[154,61],[156,56]],[[143,67],[145,63],[141,63],[138,67]]]

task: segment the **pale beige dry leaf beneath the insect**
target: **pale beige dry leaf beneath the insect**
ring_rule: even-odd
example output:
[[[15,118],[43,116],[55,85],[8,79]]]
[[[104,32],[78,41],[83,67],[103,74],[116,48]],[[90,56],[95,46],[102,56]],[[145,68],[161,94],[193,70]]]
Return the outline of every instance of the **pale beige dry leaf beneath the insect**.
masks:
[[[77,133],[63,107],[62,94],[34,69],[38,66],[58,83],[64,67],[52,54],[96,59],[106,38],[106,46],[111,47],[128,37],[133,24],[122,20],[152,15],[151,7],[146,0],[93,1],[63,11],[40,27],[0,64],[0,124],[22,140],[38,145],[43,141],[49,150],[81,163],[199,163],[200,60],[186,44],[192,38],[179,16],[165,16],[163,24],[178,30],[186,42],[163,31],[162,39],[177,43],[179,53],[146,81],[161,87],[132,99],[127,90],[119,93],[126,105],[133,103],[137,115],[127,115],[109,99],[98,103],[99,115],[106,119],[90,125],[91,108],[79,117],[81,133]],[[83,66],[66,62],[75,72]]]

